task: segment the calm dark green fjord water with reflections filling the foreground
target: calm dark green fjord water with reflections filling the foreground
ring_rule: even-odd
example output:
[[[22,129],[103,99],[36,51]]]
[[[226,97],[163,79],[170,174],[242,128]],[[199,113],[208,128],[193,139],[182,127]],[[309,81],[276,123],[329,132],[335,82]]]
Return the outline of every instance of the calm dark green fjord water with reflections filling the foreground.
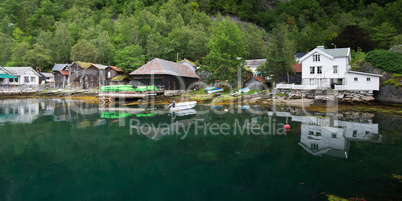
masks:
[[[401,116],[263,106],[115,110],[0,100],[0,200],[402,196],[393,177],[402,175]]]

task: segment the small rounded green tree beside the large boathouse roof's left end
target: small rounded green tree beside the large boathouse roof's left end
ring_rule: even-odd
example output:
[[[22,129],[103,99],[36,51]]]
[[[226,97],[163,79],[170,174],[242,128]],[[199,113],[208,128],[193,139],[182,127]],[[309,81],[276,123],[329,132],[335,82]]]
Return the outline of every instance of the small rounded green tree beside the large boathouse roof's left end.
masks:
[[[139,45],[129,45],[125,47],[114,57],[117,63],[116,67],[130,72],[136,70],[145,64],[143,52],[143,49]]]

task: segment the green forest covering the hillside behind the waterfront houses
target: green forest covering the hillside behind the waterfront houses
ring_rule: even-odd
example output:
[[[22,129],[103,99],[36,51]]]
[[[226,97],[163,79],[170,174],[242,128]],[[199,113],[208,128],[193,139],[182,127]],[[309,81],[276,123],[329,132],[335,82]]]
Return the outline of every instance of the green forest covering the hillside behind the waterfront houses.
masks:
[[[401,11],[402,0],[0,0],[0,65],[132,71],[158,57],[216,70],[317,45],[400,51]]]

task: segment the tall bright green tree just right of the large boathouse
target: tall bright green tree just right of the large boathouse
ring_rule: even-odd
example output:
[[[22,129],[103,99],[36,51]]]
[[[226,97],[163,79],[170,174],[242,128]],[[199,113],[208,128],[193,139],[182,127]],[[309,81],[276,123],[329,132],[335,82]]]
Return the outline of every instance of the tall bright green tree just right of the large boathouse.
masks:
[[[238,68],[248,54],[244,32],[229,19],[223,20],[213,28],[208,48],[210,52],[205,62],[208,71],[212,72],[211,78],[234,84]]]

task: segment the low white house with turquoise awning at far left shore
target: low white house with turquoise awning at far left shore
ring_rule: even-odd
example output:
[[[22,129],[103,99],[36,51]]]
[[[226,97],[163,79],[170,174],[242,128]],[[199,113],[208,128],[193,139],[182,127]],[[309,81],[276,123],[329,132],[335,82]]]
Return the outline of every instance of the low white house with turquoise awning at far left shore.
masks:
[[[39,73],[31,67],[1,67],[0,74],[12,76],[13,78],[3,78],[0,83],[3,85],[39,85]]]

